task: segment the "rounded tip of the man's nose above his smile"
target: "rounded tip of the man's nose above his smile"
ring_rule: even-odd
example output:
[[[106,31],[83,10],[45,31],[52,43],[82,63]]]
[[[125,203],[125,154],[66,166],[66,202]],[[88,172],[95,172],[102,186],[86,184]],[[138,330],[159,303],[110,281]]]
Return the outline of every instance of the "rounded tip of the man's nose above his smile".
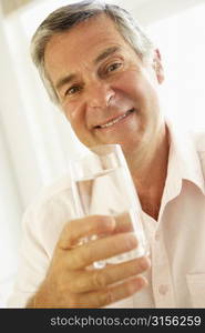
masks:
[[[86,91],[88,107],[92,109],[107,108],[114,98],[114,90],[105,82],[94,82]]]

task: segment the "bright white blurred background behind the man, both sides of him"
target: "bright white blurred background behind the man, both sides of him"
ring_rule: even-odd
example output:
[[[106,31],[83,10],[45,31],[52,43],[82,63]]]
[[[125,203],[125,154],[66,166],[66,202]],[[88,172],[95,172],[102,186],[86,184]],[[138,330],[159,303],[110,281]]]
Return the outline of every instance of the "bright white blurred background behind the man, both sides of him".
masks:
[[[8,17],[0,11],[0,306],[6,306],[14,280],[25,208],[82,151],[70,125],[49,101],[29,57],[29,40],[37,26],[69,2],[74,1],[33,0]],[[168,117],[204,130],[205,0],[109,2],[130,10],[161,47]]]

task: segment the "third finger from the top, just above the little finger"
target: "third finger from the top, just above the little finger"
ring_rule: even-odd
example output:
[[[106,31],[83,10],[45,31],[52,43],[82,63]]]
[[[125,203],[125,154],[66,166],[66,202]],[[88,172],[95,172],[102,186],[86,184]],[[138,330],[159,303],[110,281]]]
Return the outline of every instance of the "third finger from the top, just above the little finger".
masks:
[[[74,273],[69,287],[74,293],[103,290],[109,284],[113,284],[131,276],[143,273],[150,268],[147,258],[137,258],[125,263],[107,265],[102,270],[83,271]]]

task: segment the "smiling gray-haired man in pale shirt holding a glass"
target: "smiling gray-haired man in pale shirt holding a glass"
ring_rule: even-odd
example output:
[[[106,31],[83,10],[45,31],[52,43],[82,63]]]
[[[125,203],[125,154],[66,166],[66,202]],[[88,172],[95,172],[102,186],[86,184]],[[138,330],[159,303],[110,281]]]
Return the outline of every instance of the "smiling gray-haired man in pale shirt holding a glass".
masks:
[[[121,144],[142,204],[152,269],[146,256],[89,269],[136,248],[137,241],[119,233],[114,218],[74,220],[68,179],[25,214],[10,304],[205,306],[205,164],[196,142],[178,138],[164,119],[160,51],[123,9],[86,1],[42,22],[32,40],[32,59],[83,144]],[[104,236],[82,244],[92,234]]]

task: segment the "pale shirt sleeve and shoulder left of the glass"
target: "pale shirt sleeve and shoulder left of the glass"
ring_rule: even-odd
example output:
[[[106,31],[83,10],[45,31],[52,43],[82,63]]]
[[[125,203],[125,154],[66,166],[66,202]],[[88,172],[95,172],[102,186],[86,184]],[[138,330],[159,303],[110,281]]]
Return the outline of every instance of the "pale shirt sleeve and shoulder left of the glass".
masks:
[[[60,185],[47,189],[28,208],[22,221],[17,280],[8,307],[25,307],[35,294],[47,275],[64,225],[75,216],[72,190],[66,179],[62,179]]]

